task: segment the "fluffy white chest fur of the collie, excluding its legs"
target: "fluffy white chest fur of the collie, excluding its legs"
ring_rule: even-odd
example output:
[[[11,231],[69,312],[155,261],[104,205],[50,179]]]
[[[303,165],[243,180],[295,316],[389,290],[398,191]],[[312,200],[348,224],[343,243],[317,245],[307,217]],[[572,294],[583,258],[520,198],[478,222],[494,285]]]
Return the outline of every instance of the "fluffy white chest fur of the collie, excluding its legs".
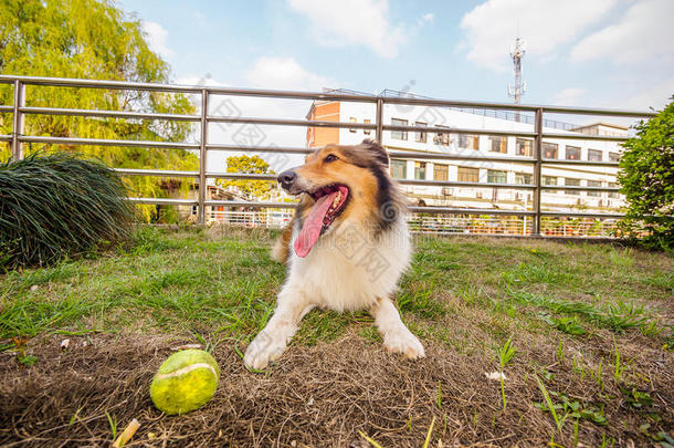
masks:
[[[294,239],[297,237],[295,232]],[[291,257],[286,288],[307,294],[324,309],[352,311],[370,308],[397,290],[411,257],[408,225],[399,219],[378,237],[344,222],[318,239],[306,258]]]

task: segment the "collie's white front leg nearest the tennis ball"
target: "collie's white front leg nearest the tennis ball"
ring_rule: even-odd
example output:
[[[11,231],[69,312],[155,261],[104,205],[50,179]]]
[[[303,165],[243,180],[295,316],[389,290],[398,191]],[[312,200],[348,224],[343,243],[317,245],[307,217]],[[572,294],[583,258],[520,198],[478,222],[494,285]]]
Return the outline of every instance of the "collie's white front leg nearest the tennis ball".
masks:
[[[297,331],[297,324],[314,305],[301,291],[284,288],[277,298],[276,310],[266,326],[250,343],[243,363],[251,368],[265,368],[277,360]]]

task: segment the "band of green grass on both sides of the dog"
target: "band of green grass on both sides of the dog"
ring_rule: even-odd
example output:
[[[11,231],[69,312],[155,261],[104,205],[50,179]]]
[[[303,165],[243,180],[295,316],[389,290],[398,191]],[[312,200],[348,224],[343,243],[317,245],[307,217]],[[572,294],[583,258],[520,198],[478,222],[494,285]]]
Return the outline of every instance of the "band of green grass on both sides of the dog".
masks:
[[[248,341],[268,320],[285,278],[285,267],[268,256],[273,236],[143,227],[98,258],[10,271],[0,278],[0,338],[139,329]],[[661,309],[672,286],[665,254],[435,237],[417,238],[415,246],[394,300],[422,337],[472,353],[514,330],[580,336],[609,329],[639,330],[671,345]],[[351,326],[380,341],[367,313],[314,311],[294,343],[331,341]],[[476,342],[473,329],[485,340]]]

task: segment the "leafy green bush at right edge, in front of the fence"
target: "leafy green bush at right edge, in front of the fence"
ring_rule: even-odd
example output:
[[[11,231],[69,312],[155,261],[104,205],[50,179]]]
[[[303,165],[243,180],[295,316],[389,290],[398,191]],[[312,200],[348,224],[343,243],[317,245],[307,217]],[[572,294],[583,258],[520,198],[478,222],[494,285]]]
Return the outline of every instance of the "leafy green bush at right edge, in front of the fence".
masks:
[[[673,97],[674,100],[674,97]],[[649,248],[674,249],[674,102],[623,143],[618,181],[628,200],[620,229]]]

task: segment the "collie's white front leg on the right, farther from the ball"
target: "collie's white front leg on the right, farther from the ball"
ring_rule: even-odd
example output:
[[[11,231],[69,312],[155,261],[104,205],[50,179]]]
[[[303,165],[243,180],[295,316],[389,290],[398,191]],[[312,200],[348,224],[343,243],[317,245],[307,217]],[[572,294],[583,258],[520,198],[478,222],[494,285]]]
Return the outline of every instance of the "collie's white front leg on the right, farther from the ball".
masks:
[[[383,337],[383,345],[393,353],[402,353],[407,357],[415,360],[424,357],[423,345],[412,332],[404,326],[400,313],[390,299],[377,299],[370,308],[370,314]]]

